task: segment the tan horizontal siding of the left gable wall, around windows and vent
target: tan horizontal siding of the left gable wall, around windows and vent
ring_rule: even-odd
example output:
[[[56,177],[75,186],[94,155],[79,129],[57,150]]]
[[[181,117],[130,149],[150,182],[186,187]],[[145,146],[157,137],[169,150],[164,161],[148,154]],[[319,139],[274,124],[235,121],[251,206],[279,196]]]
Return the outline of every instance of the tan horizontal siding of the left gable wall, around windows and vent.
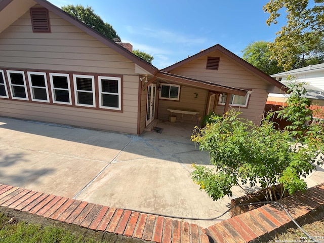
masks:
[[[0,99],[0,114],[137,134],[138,75],[135,63],[52,12],[50,23],[51,33],[33,33],[27,12],[0,33],[0,68],[121,76],[122,112]]]

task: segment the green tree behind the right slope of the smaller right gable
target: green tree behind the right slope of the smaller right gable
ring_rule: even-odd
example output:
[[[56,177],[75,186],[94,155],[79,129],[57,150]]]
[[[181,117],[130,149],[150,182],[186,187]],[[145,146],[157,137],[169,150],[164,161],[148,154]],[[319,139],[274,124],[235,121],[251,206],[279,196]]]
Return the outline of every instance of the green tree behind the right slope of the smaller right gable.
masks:
[[[268,44],[264,41],[250,43],[241,51],[242,58],[269,75],[284,71],[277,66],[276,60],[270,59],[272,53],[269,51]]]

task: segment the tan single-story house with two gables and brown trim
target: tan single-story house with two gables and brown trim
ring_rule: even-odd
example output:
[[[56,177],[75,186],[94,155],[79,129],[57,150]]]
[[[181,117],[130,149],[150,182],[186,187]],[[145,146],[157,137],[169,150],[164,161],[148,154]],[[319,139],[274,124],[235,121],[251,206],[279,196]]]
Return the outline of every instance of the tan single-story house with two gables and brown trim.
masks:
[[[281,88],[220,45],[158,70],[45,0],[0,1],[0,49],[0,115],[72,126],[141,134],[229,106],[259,123]]]

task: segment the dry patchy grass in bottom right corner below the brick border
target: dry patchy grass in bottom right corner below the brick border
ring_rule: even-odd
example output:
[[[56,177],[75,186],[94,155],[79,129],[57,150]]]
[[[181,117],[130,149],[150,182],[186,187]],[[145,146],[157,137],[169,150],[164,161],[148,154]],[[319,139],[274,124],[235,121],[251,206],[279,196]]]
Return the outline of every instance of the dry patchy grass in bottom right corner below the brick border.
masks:
[[[317,240],[319,242],[324,242],[324,218],[317,220],[310,224],[305,224],[301,226],[303,230],[312,237],[319,237]],[[305,239],[301,237],[306,237],[306,235],[300,229],[290,228],[285,233],[276,235],[275,238],[270,240],[269,242],[285,242],[285,240],[303,240],[303,242],[311,242],[310,239]],[[315,238],[316,239],[316,238]]]

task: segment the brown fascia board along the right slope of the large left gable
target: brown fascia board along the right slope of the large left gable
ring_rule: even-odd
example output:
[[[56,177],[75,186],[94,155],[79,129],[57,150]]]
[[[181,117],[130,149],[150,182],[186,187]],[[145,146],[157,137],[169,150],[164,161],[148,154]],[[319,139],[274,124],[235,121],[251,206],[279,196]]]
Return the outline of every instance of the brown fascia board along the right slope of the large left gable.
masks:
[[[8,1],[8,0],[7,0]],[[55,13],[62,19],[65,19],[66,21],[70,22],[71,24],[75,25],[79,29],[85,31],[86,33],[90,34],[94,38],[96,38],[101,43],[105,44],[106,46],[110,47],[112,50],[116,51],[120,55],[125,56],[129,60],[133,61],[135,64],[139,65],[140,67],[147,70],[149,73],[154,73],[158,69],[154,67],[153,65],[149,64],[148,62],[142,60],[141,58],[137,57],[135,54],[131,53],[130,51],[126,50],[124,47],[119,46],[118,44],[115,44],[110,39],[107,39],[105,36],[100,34],[99,32],[95,31],[94,29],[90,28],[88,25],[82,23],[81,21],[75,19],[68,13],[64,12],[60,8],[56,7],[55,5],[49,3],[46,0],[34,0],[39,5],[42,5],[44,8],[47,8],[51,12]]]

